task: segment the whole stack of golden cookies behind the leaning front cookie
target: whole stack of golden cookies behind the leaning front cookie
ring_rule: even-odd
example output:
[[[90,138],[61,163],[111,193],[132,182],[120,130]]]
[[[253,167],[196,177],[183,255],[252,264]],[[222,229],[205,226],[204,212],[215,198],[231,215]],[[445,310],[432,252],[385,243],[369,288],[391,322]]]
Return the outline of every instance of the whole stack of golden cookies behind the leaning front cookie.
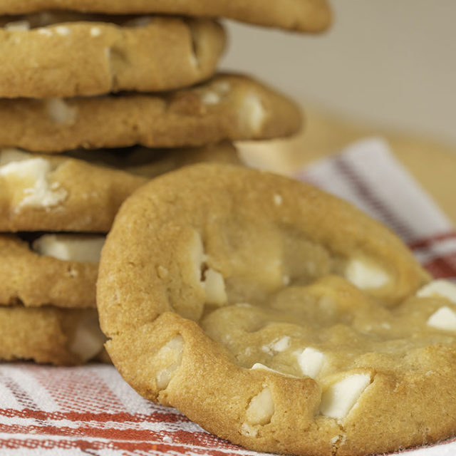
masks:
[[[102,350],[98,259],[123,200],[188,163],[236,163],[229,141],[299,130],[291,100],[216,74],[214,18],[317,32],[328,6],[0,0],[0,15],[0,358],[81,363]]]

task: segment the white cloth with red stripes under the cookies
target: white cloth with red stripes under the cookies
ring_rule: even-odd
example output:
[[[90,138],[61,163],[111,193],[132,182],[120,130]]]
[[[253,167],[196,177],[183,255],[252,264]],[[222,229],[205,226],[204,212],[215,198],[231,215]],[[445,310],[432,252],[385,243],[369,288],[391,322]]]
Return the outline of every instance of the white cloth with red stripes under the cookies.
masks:
[[[388,145],[358,142],[297,175],[390,225],[432,274],[455,279],[450,221],[395,161]],[[456,454],[456,440],[408,450]],[[0,366],[0,455],[259,455],[210,435],[177,410],[140,398],[112,366]]]

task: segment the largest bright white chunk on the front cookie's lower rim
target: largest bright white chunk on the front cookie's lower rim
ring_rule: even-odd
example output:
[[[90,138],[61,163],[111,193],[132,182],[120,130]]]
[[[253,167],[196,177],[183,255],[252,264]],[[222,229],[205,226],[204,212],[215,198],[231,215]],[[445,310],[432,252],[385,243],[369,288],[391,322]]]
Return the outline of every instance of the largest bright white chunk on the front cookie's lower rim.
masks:
[[[345,418],[371,383],[371,375],[356,373],[331,385],[321,395],[320,413],[330,418]]]

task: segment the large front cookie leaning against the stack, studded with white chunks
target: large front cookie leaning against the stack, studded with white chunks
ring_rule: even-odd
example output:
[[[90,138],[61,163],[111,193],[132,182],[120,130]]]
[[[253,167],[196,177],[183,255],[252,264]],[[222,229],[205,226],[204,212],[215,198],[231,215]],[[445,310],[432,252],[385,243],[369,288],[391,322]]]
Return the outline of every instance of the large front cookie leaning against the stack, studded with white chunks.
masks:
[[[138,393],[249,449],[356,456],[456,432],[456,287],[310,185],[158,177],[115,219],[97,301]]]

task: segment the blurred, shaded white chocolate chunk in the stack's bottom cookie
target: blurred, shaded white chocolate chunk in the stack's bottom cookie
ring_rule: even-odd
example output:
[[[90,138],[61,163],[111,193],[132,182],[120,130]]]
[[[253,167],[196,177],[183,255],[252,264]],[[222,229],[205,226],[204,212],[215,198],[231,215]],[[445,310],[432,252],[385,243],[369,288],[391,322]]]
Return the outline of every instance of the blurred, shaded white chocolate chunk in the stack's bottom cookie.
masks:
[[[84,318],[76,326],[73,340],[69,345],[71,353],[79,356],[81,361],[86,362],[100,353],[106,338],[100,330],[98,318]]]

